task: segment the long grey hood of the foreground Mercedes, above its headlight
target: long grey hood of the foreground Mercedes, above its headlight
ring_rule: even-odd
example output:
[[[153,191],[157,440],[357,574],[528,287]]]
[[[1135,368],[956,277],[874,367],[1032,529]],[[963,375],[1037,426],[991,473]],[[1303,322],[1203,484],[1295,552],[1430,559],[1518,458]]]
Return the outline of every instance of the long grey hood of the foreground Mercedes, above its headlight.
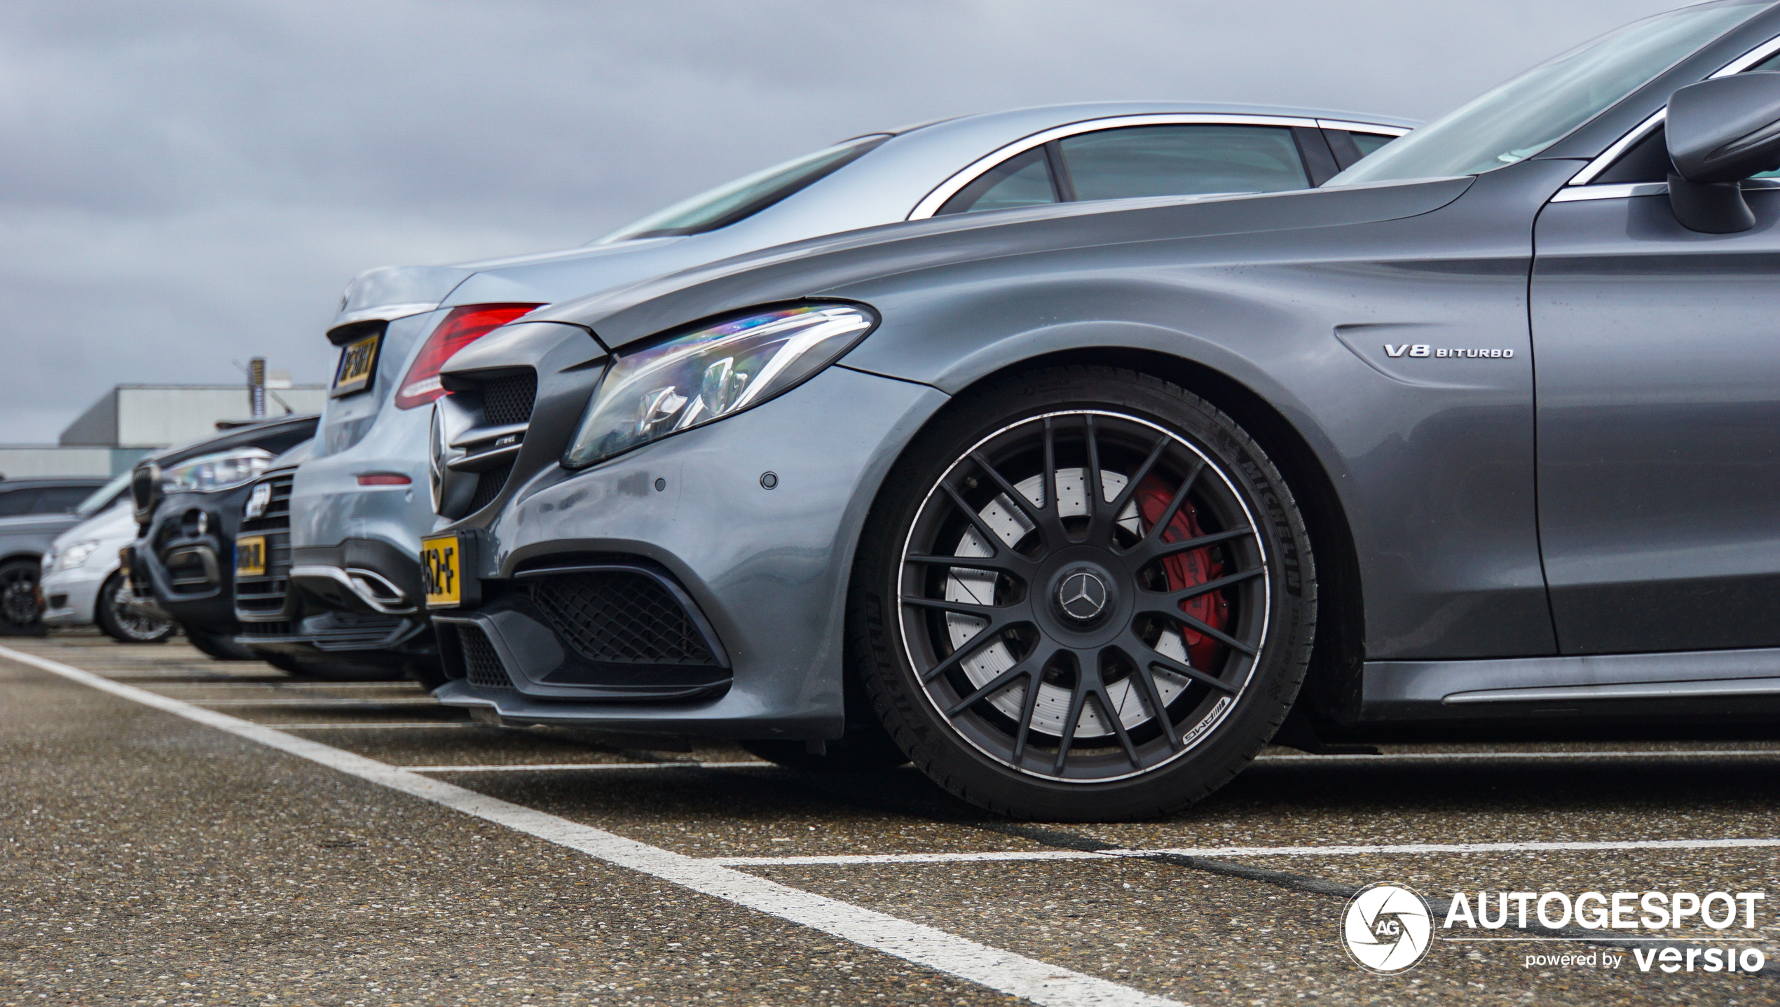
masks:
[[[1413,217],[1458,199],[1472,181],[1474,176],[1458,176],[1271,194],[1107,199],[910,221],[712,262],[543,308],[527,320],[582,326],[607,349],[619,349],[714,315],[837,297],[856,283],[918,269],[1070,247]]]

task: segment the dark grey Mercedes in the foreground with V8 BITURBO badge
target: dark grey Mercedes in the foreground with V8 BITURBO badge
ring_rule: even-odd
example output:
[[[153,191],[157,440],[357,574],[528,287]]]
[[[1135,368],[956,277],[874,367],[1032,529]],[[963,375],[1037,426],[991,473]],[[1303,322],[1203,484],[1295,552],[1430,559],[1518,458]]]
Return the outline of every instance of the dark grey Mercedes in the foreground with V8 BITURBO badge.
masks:
[[[1317,190],[876,228],[495,331],[436,413],[443,512],[513,461],[427,543],[438,696],[1043,818],[1180,806],[1282,724],[1771,717],[1775,53],[1773,4],[1693,5]]]

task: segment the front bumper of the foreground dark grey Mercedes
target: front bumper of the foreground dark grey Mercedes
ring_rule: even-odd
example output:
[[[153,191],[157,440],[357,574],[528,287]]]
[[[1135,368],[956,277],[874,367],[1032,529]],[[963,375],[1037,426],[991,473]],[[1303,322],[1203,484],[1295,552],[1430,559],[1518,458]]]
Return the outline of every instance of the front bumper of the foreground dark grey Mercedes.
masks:
[[[545,468],[475,532],[482,546],[466,576],[484,580],[490,601],[434,610],[452,678],[434,696],[525,724],[838,738],[854,543],[890,464],[945,400],[924,384],[831,367],[764,406],[591,470]],[[525,608],[529,582],[600,566],[655,571],[671,585],[708,628],[721,674],[561,671],[589,644]],[[493,644],[511,689],[468,674],[445,642],[461,626]],[[618,690],[634,685],[643,689]]]

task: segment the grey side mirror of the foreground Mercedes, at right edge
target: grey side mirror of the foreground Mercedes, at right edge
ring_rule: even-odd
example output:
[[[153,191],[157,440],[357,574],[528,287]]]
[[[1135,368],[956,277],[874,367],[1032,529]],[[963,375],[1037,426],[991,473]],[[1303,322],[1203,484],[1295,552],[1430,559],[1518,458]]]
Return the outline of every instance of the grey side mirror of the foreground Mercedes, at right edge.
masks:
[[[1755,226],[1739,181],[1780,165],[1780,73],[1702,80],[1670,96],[1670,206],[1691,231]]]

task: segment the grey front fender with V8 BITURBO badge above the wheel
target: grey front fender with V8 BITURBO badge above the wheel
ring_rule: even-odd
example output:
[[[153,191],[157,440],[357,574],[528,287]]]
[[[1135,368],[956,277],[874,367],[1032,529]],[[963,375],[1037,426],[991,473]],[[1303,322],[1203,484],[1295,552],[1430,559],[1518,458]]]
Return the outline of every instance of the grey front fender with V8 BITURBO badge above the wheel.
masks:
[[[1271,404],[1328,475],[1371,658],[1547,655],[1525,297],[1533,217],[1565,178],[1527,164],[1413,215],[1041,249],[821,294],[883,317],[842,363],[952,395],[1061,350],[1210,368]],[[1404,359],[1387,343],[1513,354]]]

